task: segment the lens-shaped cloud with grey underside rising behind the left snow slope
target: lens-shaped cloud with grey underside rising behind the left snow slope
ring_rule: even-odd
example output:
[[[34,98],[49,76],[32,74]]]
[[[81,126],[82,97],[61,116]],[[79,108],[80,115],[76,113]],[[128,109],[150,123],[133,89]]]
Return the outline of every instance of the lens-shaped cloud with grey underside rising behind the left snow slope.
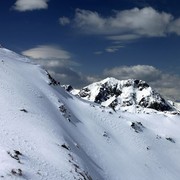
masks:
[[[71,53],[57,46],[41,45],[22,52],[33,58],[61,84],[71,84],[74,87],[83,86],[89,82],[85,76],[74,68],[80,66],[72,60]]]

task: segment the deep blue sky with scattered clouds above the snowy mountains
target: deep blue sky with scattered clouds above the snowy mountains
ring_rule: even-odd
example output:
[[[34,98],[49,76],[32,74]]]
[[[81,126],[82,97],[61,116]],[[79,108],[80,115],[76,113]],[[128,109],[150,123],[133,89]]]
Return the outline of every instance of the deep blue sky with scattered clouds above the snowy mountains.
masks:
[[[2,0],[0,43],[63,84],[113,76],[180,100],[178,0]]]

